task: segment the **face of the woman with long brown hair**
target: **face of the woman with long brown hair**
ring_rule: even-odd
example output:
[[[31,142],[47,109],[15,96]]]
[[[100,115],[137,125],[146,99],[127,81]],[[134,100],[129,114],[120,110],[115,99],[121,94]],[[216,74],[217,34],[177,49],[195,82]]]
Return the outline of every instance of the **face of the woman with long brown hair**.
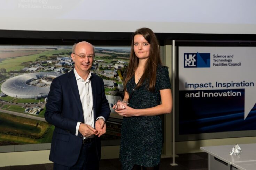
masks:
[[[133,38],[133,48],[135,55],[139,59],[147,59],[150,55],[150,44],[143,37],[143,35],[137,34]]]

